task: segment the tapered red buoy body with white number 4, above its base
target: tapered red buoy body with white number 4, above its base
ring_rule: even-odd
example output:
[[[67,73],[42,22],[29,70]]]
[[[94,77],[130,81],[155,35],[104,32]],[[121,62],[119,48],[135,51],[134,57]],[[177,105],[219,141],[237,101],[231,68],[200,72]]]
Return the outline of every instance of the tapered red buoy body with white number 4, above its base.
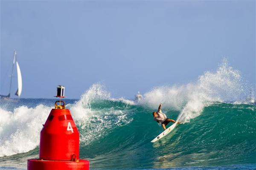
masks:
[[[79,132],[68,109],[52,109],[40,133],[39,159],[79,159]]]

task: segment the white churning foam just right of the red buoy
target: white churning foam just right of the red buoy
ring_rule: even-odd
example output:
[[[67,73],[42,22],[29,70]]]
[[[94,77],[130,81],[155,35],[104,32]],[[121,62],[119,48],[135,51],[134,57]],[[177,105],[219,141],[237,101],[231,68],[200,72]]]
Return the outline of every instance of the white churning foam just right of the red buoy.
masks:
[[[84,144],[105,136],[110,130],[131,122],[125,109],[117,109],[114,106],[102,109],[93,109],[92,104],[105,101],[122,101],[125,104],[134,104],[125,99],[112,99],[110,93],[104,90],[101,84],[92,85],[76,102],[70,106],[70,111],[80,127],[80,140]],[[116,126],[118,125],[118,126]]]

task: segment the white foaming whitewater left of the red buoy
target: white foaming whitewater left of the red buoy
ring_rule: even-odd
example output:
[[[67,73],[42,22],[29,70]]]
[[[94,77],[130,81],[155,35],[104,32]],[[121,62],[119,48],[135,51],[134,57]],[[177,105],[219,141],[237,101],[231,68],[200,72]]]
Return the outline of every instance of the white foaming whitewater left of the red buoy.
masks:
[[[0,156],[24,153],[39,144],[40,130],[51,108],[21,106],[13,112],[0,109]]]

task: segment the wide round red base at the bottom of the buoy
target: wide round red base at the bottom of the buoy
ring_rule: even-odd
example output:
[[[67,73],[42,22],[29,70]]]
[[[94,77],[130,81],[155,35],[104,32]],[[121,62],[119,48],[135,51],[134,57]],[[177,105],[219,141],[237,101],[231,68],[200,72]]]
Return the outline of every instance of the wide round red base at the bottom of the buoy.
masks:
[[[41,159],[29,159],[28,170],[89,170],[89,161],[49,161]]]

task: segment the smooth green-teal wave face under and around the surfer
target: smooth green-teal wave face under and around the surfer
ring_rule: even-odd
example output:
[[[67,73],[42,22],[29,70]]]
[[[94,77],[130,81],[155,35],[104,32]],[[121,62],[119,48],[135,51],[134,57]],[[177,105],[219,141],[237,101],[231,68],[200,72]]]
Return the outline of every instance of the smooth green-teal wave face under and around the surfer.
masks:
[[[80,157],[89,159],[93,168],[256,163],[256,106],[253,105],[213,103],[200,116],[178,125],[155,143],[150,141],[162,128],[154,122],[153,110],[109,100],[93,102],[90,109],[100,110],[99,114],[95,112],[77,125],[81,134]],[[102,114],[102,109],[107,114]],[[111,111],[122,112],[121,118]],[[176,119],[180,112],[170,109],[165,113]]]

